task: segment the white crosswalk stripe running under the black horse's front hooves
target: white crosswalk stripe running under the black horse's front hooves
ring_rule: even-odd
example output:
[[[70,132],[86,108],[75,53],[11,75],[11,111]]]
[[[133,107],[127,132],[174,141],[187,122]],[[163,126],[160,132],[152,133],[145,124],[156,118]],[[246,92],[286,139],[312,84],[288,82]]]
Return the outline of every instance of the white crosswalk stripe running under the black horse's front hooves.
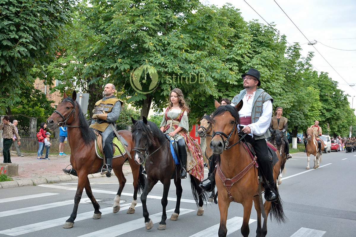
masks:
[[[172,215],[174,209],[168,210],[167,211],[167,216]],[[189,212],[192,212],[194,210],[191,209],[179,209],[179,216],[187,214]],[[157,223],[160,222],[162,219],[162,212],[154,214],[154,215],[150,215],[150,219],[152,220],[153,223]],[[122,223],[120,225],[116,225],[116,226],[111,226],[108,228],[105,228],[103,230],[99,230],[99,231],[95,231],[95,232],[91,232],[88,233],[86,235],[81,235],[78,237],[97,237],[97,236],[105,236],[108,233],[110,233],[110,236],[114,237],[114,236],[119,236],[119,235],[123,235],[127,232],[130,231],[134,231],[137,230],[139,228],[145,227],[145,218],[140,218],[137,220],[133,220],[133,221],[128,221],[125,223]]]

